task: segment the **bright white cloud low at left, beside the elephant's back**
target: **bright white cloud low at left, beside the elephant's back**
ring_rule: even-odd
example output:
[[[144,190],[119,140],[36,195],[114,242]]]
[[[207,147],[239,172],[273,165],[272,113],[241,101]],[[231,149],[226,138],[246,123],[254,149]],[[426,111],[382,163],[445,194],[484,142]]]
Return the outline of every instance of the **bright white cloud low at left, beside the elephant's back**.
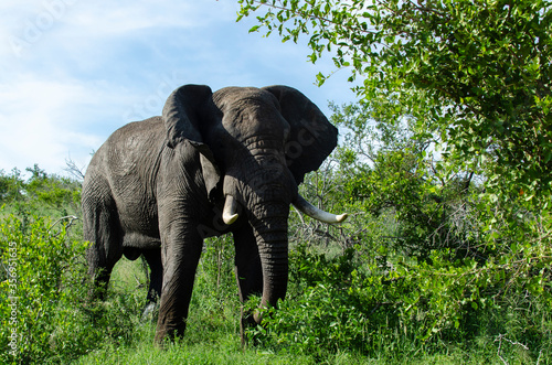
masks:
[[[46,171],[60,172],[70,155],[81,165],[89,152],[103,142],[86,130],[86,103],[91,90],[84,84],[35,80],[23,77],[10,86],[0,86],[0,168],[24,169],[34,163]],[[117,95],[112,95],[117,99]],[[85,128],[83,128],[85,127]],[[72,153],[74,152],[74,153]]]

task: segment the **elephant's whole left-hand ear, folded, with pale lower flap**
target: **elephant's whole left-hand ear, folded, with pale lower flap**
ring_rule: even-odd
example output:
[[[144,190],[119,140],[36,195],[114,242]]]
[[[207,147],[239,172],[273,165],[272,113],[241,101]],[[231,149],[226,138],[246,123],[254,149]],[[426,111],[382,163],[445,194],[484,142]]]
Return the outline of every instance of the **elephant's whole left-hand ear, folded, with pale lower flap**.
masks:
[[[205,181],[208,195],[214,197],[221,182],[213,152],[203,143],[201,130],[204,119],[201,111],[205,108],[213,92],[204,85],[184,85],[176,89],[167,99],[163,108],[163,121],[167,128],[167,144],[174,148],[184,139],[200,152],[200,164]]]

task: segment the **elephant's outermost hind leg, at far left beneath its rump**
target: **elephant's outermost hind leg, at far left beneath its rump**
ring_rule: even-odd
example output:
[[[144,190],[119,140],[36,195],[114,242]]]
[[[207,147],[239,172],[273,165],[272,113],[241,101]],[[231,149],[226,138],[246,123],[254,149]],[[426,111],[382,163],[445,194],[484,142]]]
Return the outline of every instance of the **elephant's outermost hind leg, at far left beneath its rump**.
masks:
[[[83,202],[84,239],[92,245],[86,251],[88,275],[93,279],[93,298],[104,299],[115,264],[123,256],[118,216],[109,197],[88,197]]]

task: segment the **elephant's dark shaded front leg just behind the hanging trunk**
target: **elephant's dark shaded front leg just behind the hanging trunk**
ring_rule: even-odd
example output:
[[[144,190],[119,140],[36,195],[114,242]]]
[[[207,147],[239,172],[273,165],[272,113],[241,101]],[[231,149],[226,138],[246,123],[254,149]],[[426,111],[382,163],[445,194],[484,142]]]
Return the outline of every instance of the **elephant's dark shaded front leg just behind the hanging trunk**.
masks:
[[[240,300],[243,303],[250,296],[261,294],[263,292],[261,257],[258,256],[258,248],[255,236],[253,235],[253,228],[248,224],[234,232],[234,245],[236,250],[235,275],[240,289]],[[244,330],[246,326],[254,325],[255,321],[251,313],[244,312],[243,305],[241,312],[240,333],[242,344],[245,345]]]

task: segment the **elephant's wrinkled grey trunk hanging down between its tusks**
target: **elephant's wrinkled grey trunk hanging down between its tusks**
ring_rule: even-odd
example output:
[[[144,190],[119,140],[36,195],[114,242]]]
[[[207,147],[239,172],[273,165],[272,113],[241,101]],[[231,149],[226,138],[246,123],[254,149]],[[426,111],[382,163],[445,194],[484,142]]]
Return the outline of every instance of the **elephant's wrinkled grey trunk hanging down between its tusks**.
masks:
[[[230,171],[224,180],[225,217],[231,222],[236,201],[253,228],[263,272],[261,308],[276,307],[284,299],[288,280],[289,205],[297,196],[297,184],[277,153],[256,146],[252,158],[244,159],[242,171]],[[241,176],[237,179],[236,176]],[[231,197],[229,197],[231,196]],[[226,208],[227,207],[227,208]],[[255,322],[261,318],[254,314]]]

